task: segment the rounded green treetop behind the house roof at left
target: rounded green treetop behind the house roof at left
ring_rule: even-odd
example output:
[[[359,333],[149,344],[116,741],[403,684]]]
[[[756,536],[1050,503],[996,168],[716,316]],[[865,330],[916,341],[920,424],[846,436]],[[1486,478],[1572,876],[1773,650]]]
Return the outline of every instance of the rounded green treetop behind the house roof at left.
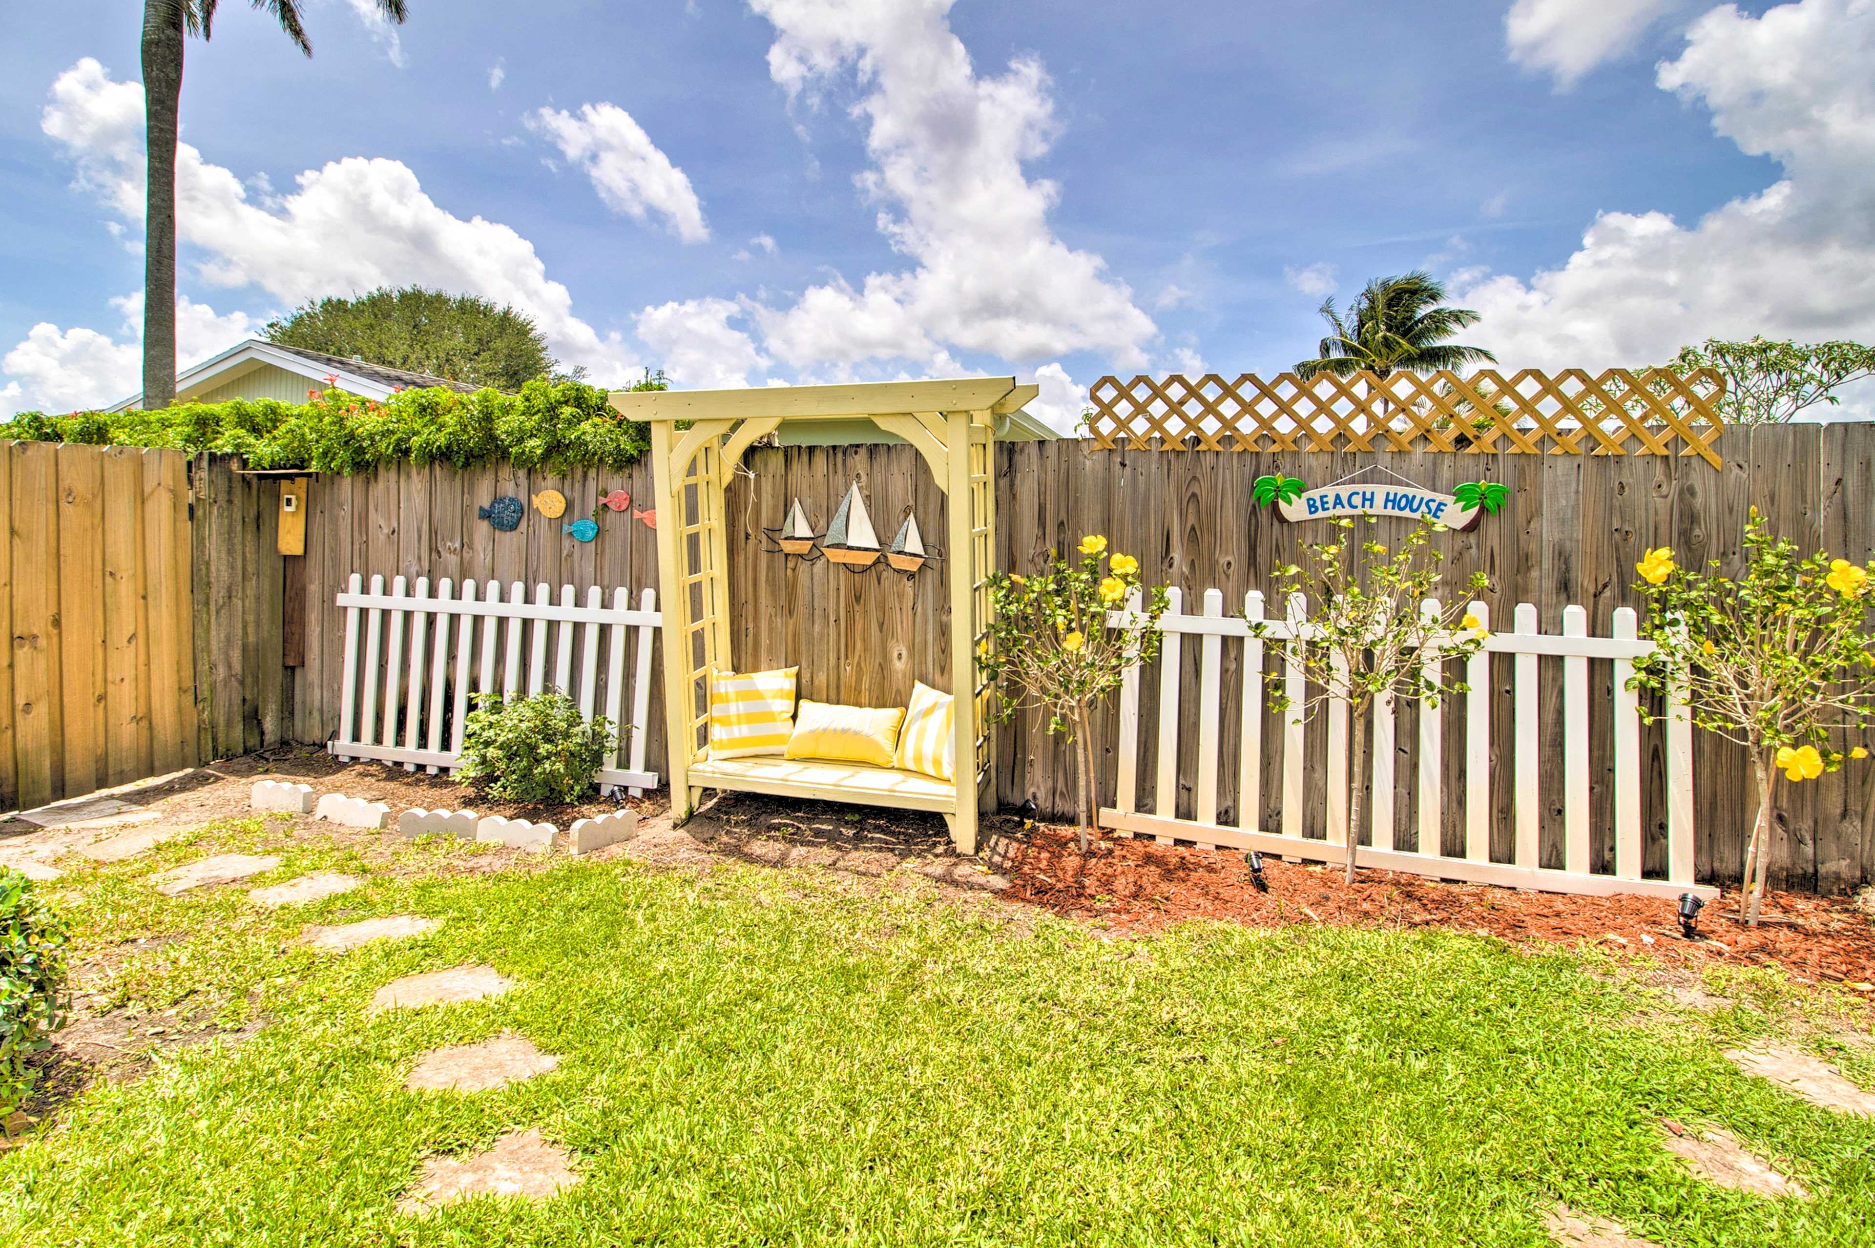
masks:
[[[532,317],[472,294],[424,287],[308,300],[285,320],[270,322],[266,341],[506,394],[536,377],[559,377],[559,362]]]

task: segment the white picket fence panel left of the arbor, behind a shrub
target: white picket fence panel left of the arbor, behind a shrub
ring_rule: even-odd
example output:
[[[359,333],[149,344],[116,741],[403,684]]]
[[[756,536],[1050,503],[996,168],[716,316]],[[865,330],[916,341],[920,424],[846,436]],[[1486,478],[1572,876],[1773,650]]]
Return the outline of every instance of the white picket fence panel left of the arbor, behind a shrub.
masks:
[[[600,768],[594,780],[606,791],[622,785],[632,796],[654,789],[658,774],[645,770],[645,725],[651,718],[651,646],[664,624],[656,609],[656,590],[643,590],[638,609],[632,609],[626,588],[611,592],[611,607],[604,605],[604,592],[596,585],[587,590],[583,607],[574,605],[574,600],[572,585],[561,587],[557,605],[549,600],[548,587],[536,585],[534,602],[527,602],[527,587],[521,581],[508,588],[506,602],[501,596],[501,581],[489,581],[480,594],[474,581],[463,581],[461,594],[452,596],[448,579],[437,585],[437,594],[431,598],[429,577],[416,579],[414,594],[407,592],[403,577],[396,577],[386,594],[384,577],[379,575],[371,577],[371,592],[364,592],[364,577],[354,572],[347,590],[338,596],[338,605],[345,607],[345,688],[339,699],[338,738],[326,750],[341,761],[381,759],[401,763],[411,772],[418,766],[431,774],[456,770],[461,763],[463,721],[469,716],[472,691],[499,691],[506,697],[518,691],[540,693],[551,684],[572,697],[579,705],[579,714],[591,720],[600,691],[604,648],[604,714],[619,733],[619,748],[611,759],[613,766]],[[480,639],[474,635],[476,620],[482,620]],[[506,620],[506,626],[499,624],[501,620]],[[549,630],[557,631],[551,678]],[[626,693],[626,630],[636,630],[638,637],[630,680],[632,718],[621,720]],[[576,637],[578,680],[574,678]],[[523,654],[527,654],[525,684]],[[446,705],[448,716],[444,716]],[[450,721],[448,748],[442,742],[444,718]]]

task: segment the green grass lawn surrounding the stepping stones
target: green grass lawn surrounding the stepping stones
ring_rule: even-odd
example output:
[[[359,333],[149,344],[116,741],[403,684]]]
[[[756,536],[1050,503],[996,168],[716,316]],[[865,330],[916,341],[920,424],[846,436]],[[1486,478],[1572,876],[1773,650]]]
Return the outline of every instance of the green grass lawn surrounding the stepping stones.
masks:
[[[917,881],[458,875],[431,843],[287,911],[142,883],[281,843],[253,883],[371,873],[249,823],[51,886],[84,950],[186,935],[114,967],[120,1003],[270,1023],[94,1085],[0,1154],[0,1242],[1543,1244],[1558,1199],[1674,1248],[1875,1242],[1875,1122],[1721,1057],[1826,1008],[1774,976],[1695,1016],[1607,963],[1468,935],[1191,924],[1108,943]],[[291,943],[394,913],[444,924],[349,954]],[[366,1014],[386,980],[465,961],[523,986]],[[420,1053],[501,1029],[559,1070],[403,1091]],[[1729,1128],[1815,1197],[1697,1182],[1658,1145],[1661,1115]],[[396,1212],[424,1156],[527,1126],[574,1151],[578,1188]]]

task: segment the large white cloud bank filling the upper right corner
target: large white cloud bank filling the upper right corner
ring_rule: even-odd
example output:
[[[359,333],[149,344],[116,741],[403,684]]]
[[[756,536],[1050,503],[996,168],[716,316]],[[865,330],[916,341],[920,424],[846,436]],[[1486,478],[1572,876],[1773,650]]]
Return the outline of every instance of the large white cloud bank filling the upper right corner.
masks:
[[[1875,0],[1712,9],[1659,86],[1783,178],[1684,227],[1605,212],[1562,268],[1468,275],[1470,332],[1513,367],[1650,364],[1704,337],[1875,337]]]

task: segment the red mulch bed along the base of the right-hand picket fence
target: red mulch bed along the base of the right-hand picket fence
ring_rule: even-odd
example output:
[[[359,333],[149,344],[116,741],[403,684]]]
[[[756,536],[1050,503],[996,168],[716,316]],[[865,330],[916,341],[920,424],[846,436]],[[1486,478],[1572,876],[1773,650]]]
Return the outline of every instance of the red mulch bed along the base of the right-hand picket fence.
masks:
[[[1222,918],[1254,928],[1342,924],[1356,928],[1451,928],[1506,941],[1599,943],[1684,965],[1776,963],[1806,980],[1875,991],[1875,922],[1849,899],[1772,892],[1757,928],[1738,922],[1727,894],[1699,916],[1704,939],[1680,935],[1676,905],[1659,898],[1577,898],[1491,884],[1446,884],[1399,871],[1282,862],[1264,854],[1269,892],[1251,884],[1241,851],[1095,841],[1082,856],[1069,828],[1035,826],[1003,864],[1003,896],[1112,928],[1153,929],[1183,918]]]

